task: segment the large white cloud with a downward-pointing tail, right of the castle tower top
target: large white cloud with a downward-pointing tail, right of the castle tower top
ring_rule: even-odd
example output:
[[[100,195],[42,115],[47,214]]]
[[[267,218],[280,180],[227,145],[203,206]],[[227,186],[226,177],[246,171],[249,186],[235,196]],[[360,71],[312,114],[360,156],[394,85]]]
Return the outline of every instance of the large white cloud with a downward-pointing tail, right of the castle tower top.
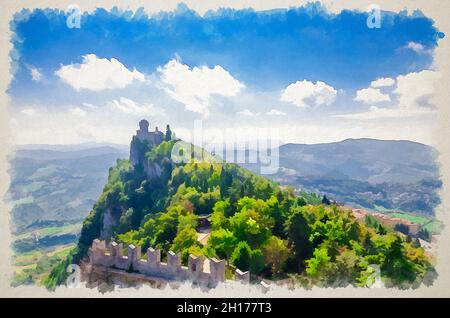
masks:
[[[162,88],[174,100],[184,104],[187,110],[201,113],[205,117],[213,95],[233,97],[238,95],[245,85],[235,79],[222,66],[193,67],[173,59],[158,68]]]

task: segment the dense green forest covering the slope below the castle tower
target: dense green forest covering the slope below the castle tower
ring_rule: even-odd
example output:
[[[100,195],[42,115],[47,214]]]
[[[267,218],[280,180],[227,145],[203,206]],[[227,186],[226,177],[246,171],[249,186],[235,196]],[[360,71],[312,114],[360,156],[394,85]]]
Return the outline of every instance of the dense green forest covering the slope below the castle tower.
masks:
[[[166,136],[167,137],[167,136]],[[83,223],[77,248],[46,279],[63,284],[66,267],[79,263],[93,239],[105,235],[104,217],[114,222],[107,239],[135,244],[145,253],[159,247],[226,259],[252,277],[290,278],[301,286],[368,286],[373,265],[386,286],[418,286],[434,275],[432,260],[417,240],[374,220],[358,222],[342,207],[315,194],[295,194],[230,163],[208,160],[175,163],[176,141],[141,144],[161,169],[149,179],[144,167],[118,160],[103,193]],[[197,240],[201,219],[210,222],[205,245]],[[108,232],[109,233],[109,232]],[[430,275],[432,274],[432,275]]]

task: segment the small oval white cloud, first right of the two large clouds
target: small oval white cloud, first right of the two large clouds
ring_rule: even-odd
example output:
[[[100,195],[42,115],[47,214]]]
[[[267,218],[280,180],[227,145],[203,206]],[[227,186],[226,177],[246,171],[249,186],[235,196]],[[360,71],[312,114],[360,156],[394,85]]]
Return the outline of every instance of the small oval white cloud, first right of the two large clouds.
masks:
[[[317,107],[330,105],[336,99],[337,91],[324,82],[316,83],[303,80],[290,84],[281,93],[282,102],[292,103],[298,107]]]

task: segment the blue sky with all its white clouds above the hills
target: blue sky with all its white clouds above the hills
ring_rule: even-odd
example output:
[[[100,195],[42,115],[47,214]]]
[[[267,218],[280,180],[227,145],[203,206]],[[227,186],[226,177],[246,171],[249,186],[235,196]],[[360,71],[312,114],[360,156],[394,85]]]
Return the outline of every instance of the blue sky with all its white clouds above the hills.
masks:
[[[68,28],[67,15],[23,11],[11,23],[13,125],[42,132],[18,130],[18,143],[125,143],[143,116],[175,129],[196,119],[269,125],[285,142],[432,143],[443,34],[420,12],[383,11],[374,29],[365,12],[320,4],[203,16],[185,5],[156,15],[97,10],[80,28]]]

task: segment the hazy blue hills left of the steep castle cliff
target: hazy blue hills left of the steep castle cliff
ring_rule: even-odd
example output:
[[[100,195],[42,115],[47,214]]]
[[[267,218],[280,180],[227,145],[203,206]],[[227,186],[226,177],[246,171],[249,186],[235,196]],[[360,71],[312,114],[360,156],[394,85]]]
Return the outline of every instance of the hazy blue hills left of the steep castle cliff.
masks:
[[[101,145],[21,146],[10,156],[12,229],[83,219],[101,193],[108,169],[128,150]]]

